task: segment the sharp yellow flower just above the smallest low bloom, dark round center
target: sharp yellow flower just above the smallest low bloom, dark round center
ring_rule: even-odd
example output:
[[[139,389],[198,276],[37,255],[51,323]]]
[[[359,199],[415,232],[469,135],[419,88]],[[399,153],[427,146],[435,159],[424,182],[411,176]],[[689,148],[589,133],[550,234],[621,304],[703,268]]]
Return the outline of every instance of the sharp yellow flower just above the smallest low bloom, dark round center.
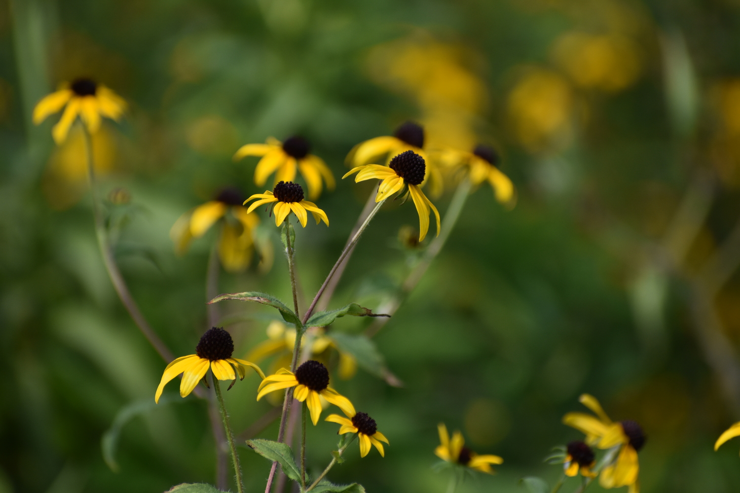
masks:
[[[270,392],[289,387],[295,387],[293,397],[300,402],[306,401],[314,425],[319,422],[321,416],[320,396],[342,409],[344,414],[354,415],[354,406],[349,399],[329,387],[329,370],[318,361],[309,359],[297,367],[295,373],[280,368],[275,375],[269,375],[260,384],[257,400]]]

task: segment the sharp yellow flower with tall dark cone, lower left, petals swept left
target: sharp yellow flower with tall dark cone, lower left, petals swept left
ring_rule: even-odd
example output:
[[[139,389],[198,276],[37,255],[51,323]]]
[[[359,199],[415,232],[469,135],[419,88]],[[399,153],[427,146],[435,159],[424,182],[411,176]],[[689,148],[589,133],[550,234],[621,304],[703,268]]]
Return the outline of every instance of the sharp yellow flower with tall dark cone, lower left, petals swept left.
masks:
[[[195,347],[195,354],[175,358],[164,369],[162,380],[159,382],[159,387],[157,387],[157,392],[154,395],[154,401],[159,402],[164,386],[181,373],[183,373],[183,379],[180,382],[180,395],[182,397],[186,397],[195,389],[198,382],[206,376],[209,368],[213,376],[219,380],[233,380],[235,382],[235,369],[239,379],[243,380],[246,375],[246,367],[252,367],[261,378],[265,378],[265,374],[262,373],[260,367],[250,361],[232,358],[232,353],[234,353],[234,341],[232,341],[231,334],[221,327],[212,327],[206,330],[206,333],[201,336],[201,340],[198,341],[198,346]],[[232,385],[234,382],[232,382]],[[230,388],[231,386],[229,386]]]

